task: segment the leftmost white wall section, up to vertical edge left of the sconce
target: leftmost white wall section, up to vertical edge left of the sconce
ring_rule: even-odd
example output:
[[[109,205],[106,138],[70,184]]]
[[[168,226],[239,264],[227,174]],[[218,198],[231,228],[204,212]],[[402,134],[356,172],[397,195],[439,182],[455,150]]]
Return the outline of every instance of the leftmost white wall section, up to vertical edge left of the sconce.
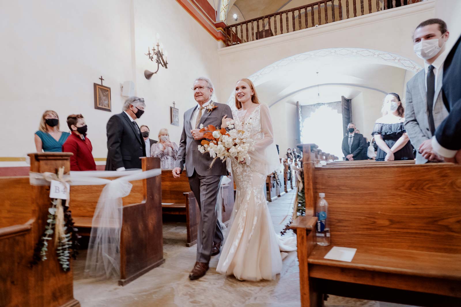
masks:
[[[2,1],[0,10],[0,156],[35,152],[44,110],[82,113],[95,157],[106,156],[106,122],[123,103],[120,83],[132,80],[130,1]],[[117,16],[117,18],[114,18]],[[111,87],[112,113],[94,109],[93,83]]]

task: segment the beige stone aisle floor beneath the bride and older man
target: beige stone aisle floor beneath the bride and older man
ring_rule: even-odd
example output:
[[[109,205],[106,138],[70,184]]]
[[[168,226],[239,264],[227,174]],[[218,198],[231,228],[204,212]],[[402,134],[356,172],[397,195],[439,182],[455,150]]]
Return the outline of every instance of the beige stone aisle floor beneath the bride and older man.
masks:
[[[290,192],[269,203],[274,228],[280,232],[288,222],[295,193]],[[287,216],[288,215],[288,216]],[[300,304],[299,267],[296,252],[284,259],[283,271],[276,280],[242,282],[216,272],[219,255],[212,257],[203,278],[190,281],[196,245],[186,247],[184,223],[169,222],[163,227],[165,263],[130,284],[119,287],[117,280],[97,280],[83,274],[85,251],[74,261],[74,297],[82,307],[187,307],[187,306],[284,306]],[[330,295],[325,306],[404,307],[377,301],[362,301]]]

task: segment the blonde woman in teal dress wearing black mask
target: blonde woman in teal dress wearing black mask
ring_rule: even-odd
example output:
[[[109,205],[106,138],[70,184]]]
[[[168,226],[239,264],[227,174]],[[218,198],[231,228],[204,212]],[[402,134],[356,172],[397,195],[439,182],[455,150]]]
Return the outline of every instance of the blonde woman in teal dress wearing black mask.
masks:
[[[59,130],[58,113],[47,110],[41,116],[40,126],[35,132],[35,148],[37,152],[42,151],[62,151],[62,145],[67,137],[71,135]]]

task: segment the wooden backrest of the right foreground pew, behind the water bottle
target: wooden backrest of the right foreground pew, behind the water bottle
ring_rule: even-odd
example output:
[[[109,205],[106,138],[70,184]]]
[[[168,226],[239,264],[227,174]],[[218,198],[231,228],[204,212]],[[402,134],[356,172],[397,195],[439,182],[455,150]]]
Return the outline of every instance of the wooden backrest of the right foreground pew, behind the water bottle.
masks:
[[[329,203],[332,246],[455,254],[460,174],[449,163],[315,168],[314,195],[325,193]]]

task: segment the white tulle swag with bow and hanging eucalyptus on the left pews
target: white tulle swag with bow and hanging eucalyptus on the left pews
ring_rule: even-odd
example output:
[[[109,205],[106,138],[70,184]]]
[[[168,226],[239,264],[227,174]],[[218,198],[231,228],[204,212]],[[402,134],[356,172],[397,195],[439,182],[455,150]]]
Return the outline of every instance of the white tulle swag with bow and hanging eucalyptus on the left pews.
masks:
[[[69,175],[63,175],[59,179],[56,174],[51,173],[33,173],[30,172],[30,185],[50,185],[50,181],[59,180],[70,181],[70,185],[105,185],[96,205],[95,214],[93,216],[91,225],[91,234],[88,245],[88,253],[85,264],[85,272],[93,276],[106,276],[120,275],[120,233],[122,228],[123,220],[123,202],[122,197],[130,195],[131,187],[133,186],[130,181],[143,180],[151,177],[155,177],[161,174],[160,168],[150,169],[148,171],[133,170],[133,171],[84,171],[84,172],[70,172]],[[121,176],[120,176],[121,175]],[[108,180],[105,178],[117,177],[114,180]],[[69,197],[67,197],[67,205],[69,204]],[[59,203],[53,203],[52,207],[48,210],[50,216],[59,212],[57,209]],[[56,206],[56,207],[54,207]],[[67,210],[68,206],[63,212],[67,212],[67,216],[70,217],[70,211]],[[66,214],[64,214],[66,216]],[[52,218],[49,218],[49,224],[57,225],[58,221],[51,222]],[[65,220],[65,219],[64,219]],[[49,225],[47,225],[49,226]],[[62,225],[63,229],[68,231],[74,231],[73,221],[67,218],[65,225]],[[53,227],[46,228],[45,236],[53,234]],[[42,237],[42,238],[44,238]],[[60,262],[63,268],[64,265],[68,266],[66,261],[69,260],[70,251],[69,242],[71,238],[77,238],[77,234],[70,233],[68,236],[64,236],[61,240],[62,245],[58,245],[58,250],[62,251],[59,253]],[[49,239],[43,239],[49,241]],[[69,242],[69,243],[67,243]],[[41,249],[45,247],[44,251],[47,251],[47,244],[40,243],[36,250],[39,251],[38,257],[40,257]],[[60,248],[59,248],[60,247]],[[76,255],[75,253],[73,255]],[[67,268],[67,267],[66,267]]]

